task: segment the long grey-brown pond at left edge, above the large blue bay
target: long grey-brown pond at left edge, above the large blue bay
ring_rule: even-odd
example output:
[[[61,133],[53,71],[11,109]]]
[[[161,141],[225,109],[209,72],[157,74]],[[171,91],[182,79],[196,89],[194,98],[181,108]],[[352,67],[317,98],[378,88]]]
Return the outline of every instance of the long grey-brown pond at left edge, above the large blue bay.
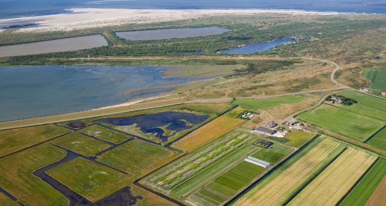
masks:
[[[21,56],[29,54],[69,52],[107,46],[106,39],[101,35],[89,35],[50,41],[16,44],[0,47],[0,57]]]

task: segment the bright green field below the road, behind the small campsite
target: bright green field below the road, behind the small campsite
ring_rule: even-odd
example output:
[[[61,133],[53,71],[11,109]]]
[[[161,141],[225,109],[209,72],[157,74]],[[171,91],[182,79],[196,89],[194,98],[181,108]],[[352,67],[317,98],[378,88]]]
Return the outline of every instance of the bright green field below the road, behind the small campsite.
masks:
[[[300,96],[283,96],[264,99],[241,99],[232,102],[233,105],[246,105],[260,110],[269,110],[285,103],[299,103],[303,100]]]

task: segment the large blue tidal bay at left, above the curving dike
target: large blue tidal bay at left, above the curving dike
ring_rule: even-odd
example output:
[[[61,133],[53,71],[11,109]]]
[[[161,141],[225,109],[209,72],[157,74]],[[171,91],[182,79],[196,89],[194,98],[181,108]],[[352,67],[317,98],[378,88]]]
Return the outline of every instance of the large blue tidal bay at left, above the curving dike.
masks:
[[[0,67],[0,121],[89,110],[157,96],[199,77],[163,77],[167,66]],[[148,88],[151,87],[151,88]],[[141,89],[145,88],[145,89]],[[148,88],[148,89],[146,89]],[[128,90],[140,91],[124,94]]]

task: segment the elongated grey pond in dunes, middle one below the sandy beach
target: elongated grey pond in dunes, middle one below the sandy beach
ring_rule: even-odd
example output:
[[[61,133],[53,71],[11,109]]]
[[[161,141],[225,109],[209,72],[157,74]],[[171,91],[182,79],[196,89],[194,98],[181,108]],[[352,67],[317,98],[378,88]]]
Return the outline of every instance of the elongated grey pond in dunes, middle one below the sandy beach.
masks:
[[[174,38],[188,38],[198,36],[209,36],[215,34],[222,34],[231,31],[227,28],[219,28],[216,26],[202,27],[202,28],[168,28],[155,30],[141,30],[141,31],[123,31],[116,32],[117,36],[131,41],[144,40],[160,40],[160,39],[174,39]]]

